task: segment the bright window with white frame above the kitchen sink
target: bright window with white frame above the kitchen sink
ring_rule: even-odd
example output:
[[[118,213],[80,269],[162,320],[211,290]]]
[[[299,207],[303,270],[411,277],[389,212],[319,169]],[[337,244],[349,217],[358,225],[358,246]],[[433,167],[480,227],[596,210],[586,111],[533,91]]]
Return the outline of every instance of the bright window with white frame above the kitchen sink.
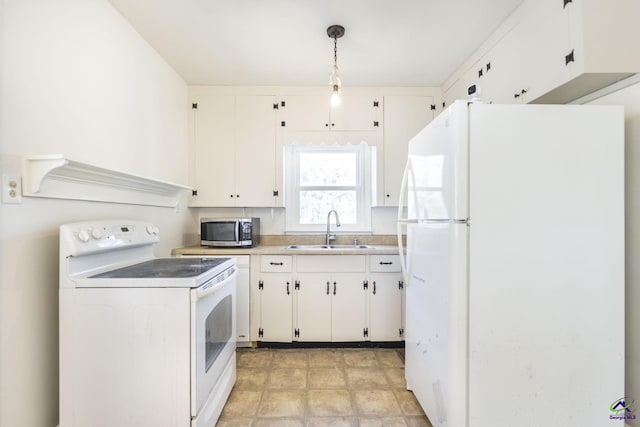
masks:
[[[340,231],[371,231],[373,154],[365,143],[287,147],[287,231],[326,231],[332,209],[340,216]]]

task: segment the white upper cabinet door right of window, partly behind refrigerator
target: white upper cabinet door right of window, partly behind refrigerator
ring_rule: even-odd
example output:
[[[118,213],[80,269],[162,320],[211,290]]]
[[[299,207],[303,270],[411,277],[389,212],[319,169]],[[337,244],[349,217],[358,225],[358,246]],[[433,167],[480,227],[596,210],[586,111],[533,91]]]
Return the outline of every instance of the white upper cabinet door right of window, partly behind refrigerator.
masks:
[[[433,120],[431,96],[384,97],[384,206],[398,206],[409,140]]]

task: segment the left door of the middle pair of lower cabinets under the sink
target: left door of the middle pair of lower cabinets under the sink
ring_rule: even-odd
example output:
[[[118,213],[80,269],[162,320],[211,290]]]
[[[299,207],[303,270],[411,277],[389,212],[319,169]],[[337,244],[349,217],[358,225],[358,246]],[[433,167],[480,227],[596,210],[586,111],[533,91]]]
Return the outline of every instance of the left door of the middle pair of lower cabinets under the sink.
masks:
[[[331,341],[331,292],[328,274],[300,274],[297,297],[298,341]]]

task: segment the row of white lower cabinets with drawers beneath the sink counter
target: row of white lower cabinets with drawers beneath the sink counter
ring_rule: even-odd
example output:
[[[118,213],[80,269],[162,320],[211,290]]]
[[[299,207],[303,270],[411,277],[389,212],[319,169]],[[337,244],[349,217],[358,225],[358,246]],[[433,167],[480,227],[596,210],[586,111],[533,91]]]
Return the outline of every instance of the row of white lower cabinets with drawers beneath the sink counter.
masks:
[[[262,255],[252,268],[257,341],[403,339],[397,255]]]

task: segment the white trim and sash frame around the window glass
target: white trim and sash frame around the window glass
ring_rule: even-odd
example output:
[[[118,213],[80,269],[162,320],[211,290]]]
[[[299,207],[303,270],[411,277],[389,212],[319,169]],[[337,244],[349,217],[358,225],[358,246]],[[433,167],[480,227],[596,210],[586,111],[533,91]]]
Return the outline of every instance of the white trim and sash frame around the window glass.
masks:
[[[347,151],[357,154],[357,171],[356,171],[356,187],[358,198],[358,220],[357,224],[342,224],[339,228],[335,227],[335,218],[331,219],[331,231],[338,233],[371,233],[371,205],[373,200],[373,192],[375,191],[375,147],[371,147],[365,142],[358,145],[303,145],[293,143],[284,148],[284,182],[285,182],[285,232],[286,233],[326,233],[327,225],[324,224],[300,224],[298,213],[300,211],[299,194],[300,186],[298,183],[299,176],[299,159],[300,153],[310,151]],[[314,187],[307,187],[313,189]],[[325,188],[325,187],[322,187]],[[353,187],[332,186],[332,190],[352,189]],[[328,213],[328,212],[327,212]],[[338,214],[340,212],[338,211]]]

